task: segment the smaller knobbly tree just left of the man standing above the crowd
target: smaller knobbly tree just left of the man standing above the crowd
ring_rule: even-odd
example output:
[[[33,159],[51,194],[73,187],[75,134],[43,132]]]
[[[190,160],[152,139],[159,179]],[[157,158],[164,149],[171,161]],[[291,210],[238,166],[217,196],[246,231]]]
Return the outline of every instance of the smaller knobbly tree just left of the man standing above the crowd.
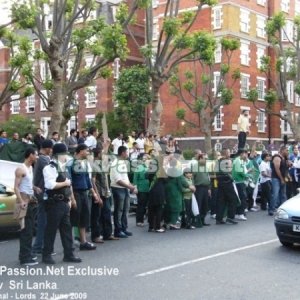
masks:
[[[199,35],[200,36],[200,35]],[[201,33],[201,49],[198,60],[186,65],[188,71],[180,76],[177,70],[169,80],[171,93],[176,95],[185,107],[195,115],[190,119],[186,109],[176,112],[177,118],[185,121],[191,127],[199,128],[205,136],[205,151],[212,150],[212,125],[221,106],[228,105],[233,99],[232,87],[240,78],[239,69],[231,70],[231,59],[234,51],[239,48],[239,41],[229,38],[221,39],[223,62],[215,64],[217,47],[213,35]],[[201,76],[199,76],[201,74]],[[229,76],[231,75],[231,80]]]

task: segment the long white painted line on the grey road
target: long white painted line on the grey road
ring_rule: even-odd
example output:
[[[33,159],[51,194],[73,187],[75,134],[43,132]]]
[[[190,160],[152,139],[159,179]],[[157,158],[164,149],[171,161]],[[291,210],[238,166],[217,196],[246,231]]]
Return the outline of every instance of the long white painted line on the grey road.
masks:
[[[175,265],[159,268],[159,269],[148,271],[148,272],[145,272],[145,273],[140,273],[140,274],[135,275],[135,277],[145,277],[145,276],[148,276],[148,275],[153,275],[153,274],[156,274],[156,273],[169,271],[169,270],[180,268],[180,267],[183,267],[183,266],[186,266],[186,265],[195,264],[195,263],[200,262],[200,261],[204,261],[204,260],[208,260],[208,259],[212,259],[212,258],[216,258],[216,257],[236,253],[236,252],[239,252],[239,251],[248,250],[248,249],[259,247],[259,246],[268,245],[268,244],[275,243],[275,242],[278,242],[278,239],[269,240],[269,241],[265,241],[265,242],[261,242],[261,243],[256,243],[256,244],[252,244],[252,245],[248,245],[248,246],[244,246],[244,247],[239,247],[239,248],[231,249],[231,250],[228,250],[228,251],[219,252],[219,253],[216,253],[216,254],[212,254],[212,255],[208,255],[208,256],[204,256],[204,257],[200,257],[200,258],[196,258],[196,259],[192,259],[192,260],[188,260],[188,261],[184,261],[182,263],[178,263],[178,264],[175,264]]]

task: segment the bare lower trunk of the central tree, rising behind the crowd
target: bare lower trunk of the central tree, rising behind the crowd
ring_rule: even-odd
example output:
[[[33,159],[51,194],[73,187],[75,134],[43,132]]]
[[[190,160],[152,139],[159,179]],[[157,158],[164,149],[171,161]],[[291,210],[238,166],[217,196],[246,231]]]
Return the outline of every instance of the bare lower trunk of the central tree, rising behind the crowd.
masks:
[[[163,106],[159,98],[159,87],[160,84],[152,81],[152,114],[148,125],[148,132],[150,134],[160,135],[160,120],[163,111]]]

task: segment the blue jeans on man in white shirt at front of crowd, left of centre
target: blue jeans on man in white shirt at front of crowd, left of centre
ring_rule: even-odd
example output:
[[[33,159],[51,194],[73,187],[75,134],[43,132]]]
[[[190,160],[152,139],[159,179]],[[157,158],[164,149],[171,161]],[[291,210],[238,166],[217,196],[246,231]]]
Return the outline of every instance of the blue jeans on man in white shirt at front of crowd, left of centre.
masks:
[[[129,193],[126,188],[112,187],[114,199],[114,235],[117,236],[121,232],[126,231],[128,221],[127,215],[129,212]]]

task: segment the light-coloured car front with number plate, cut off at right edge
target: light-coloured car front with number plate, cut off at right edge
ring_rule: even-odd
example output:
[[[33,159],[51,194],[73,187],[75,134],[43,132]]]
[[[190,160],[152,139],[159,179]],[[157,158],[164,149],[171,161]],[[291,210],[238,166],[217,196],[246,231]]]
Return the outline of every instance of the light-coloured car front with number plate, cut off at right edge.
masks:
[[[284,202],[276,211],[277,236],[284,246],[300,243],[300,194]]]

